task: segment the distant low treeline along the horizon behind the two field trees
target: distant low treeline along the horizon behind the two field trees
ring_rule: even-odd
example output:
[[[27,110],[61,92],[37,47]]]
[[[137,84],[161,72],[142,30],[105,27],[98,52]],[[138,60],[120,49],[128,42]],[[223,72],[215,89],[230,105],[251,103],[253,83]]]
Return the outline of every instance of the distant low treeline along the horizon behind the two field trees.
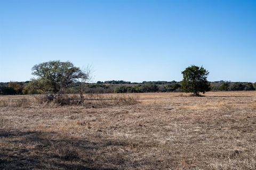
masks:
[[[69,94],[79,92],[77,84],[67,89]],[[211,91],[249,91],[255,90],[256,83],[251,82],[211,82]],[[143,81],[130,82],[123,80],[98,81],[97,83],[87,83],[85,93],[138,93],[138,92],[182,92],[181,84],[177,81]],[[42,94],[43,91],[37,84],[26,82],[5,82],[0,83],[0,95],[27,95]]]

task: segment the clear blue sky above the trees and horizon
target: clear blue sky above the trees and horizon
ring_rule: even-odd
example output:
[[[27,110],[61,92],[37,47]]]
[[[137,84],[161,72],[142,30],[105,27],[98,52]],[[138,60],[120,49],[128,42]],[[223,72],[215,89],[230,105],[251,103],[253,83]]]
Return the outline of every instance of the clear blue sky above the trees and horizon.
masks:
[[[0,0],[0,82],[50,60],[92,64],[94,81],[256,81],[256,1]]]

